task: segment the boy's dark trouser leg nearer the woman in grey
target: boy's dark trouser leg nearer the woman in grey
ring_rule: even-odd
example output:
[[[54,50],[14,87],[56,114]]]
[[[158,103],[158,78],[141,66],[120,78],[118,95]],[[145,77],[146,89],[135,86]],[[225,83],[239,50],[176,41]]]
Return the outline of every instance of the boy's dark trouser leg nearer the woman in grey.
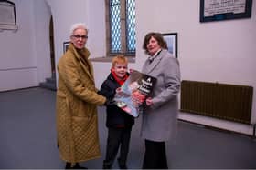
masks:
[[[123,129],[122,137],[121,137],[121,149],[120,149],[120,156],[118,159],[118,163],[120,168],[126,169],[126,160],[129,153],[129,145],[130,145],[130,138],[131,138],[131,130],[132,128]]]

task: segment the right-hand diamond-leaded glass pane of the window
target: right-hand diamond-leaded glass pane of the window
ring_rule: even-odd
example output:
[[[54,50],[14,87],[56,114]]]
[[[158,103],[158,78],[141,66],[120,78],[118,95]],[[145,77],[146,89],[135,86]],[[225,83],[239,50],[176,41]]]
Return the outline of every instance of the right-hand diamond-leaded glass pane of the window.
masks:
[[[135,46],[135,0],[126,0],[126,48],[128,53],[134,53]]]

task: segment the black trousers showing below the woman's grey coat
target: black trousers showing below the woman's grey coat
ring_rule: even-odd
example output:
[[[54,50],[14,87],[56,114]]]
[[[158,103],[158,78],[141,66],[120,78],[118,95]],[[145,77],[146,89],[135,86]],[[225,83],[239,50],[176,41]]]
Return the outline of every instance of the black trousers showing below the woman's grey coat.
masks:
[[[165,142],[145,140],[143,169],[168,169]]]

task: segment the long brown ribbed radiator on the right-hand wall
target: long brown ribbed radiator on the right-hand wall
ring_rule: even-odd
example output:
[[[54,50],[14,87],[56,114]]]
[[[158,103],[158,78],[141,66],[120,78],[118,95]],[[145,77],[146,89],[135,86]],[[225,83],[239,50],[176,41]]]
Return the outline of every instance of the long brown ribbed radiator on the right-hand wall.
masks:
[[[180,111],[251,124],[253,87],[183,80]]]

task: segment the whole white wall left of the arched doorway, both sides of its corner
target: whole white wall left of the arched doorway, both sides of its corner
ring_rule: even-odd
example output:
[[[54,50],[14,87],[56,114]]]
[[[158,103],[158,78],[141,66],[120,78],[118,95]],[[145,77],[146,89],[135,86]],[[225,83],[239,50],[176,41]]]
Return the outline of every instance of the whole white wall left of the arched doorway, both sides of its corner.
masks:
[[[12,2],[18,30],[0,32],[0,91],[37,86],[51,74],[45,1]]]

